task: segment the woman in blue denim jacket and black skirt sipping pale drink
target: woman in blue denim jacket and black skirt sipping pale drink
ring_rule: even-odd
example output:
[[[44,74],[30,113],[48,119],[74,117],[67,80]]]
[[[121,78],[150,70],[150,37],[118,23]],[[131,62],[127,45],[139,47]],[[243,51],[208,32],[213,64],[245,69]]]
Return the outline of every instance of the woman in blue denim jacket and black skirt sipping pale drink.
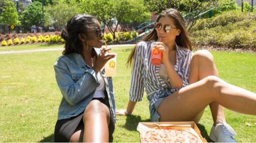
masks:
[[[56,81],[63,98],[55,126],[56,142],[109,142],[114,131],[112,77],[105,76],[103,34],[92,15],[72,17],[62,31],[65,50],[55,62]]]

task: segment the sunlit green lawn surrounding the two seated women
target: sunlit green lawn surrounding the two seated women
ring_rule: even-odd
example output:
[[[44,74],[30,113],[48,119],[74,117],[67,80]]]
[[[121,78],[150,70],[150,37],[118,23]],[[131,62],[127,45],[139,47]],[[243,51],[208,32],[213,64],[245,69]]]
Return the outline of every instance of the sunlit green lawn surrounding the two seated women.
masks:
[[[36,45],[39,46],[39,45]],[[54,45],[55,46],[55,45]],[[30,47],[34,49],[33,46]],[[49,47],[50,48],[50,47]],[[0,47],[2,49],[2,47]],[[13,49],[19,49],[14,46]],[[126,108],[131,69],[125,62],[131,47],[113,48],[118,53],[118,73],[113,77],[117,108]],[[61,93],[55,81],[53,63],[62,51],[0,55],[0,142],[53,142]],[[256,92],[256,55],[212,52],[220,77]],[[149,121],[149,103],[144,96],[134,115],[118,116],[114,142],[138,142],[138,122]],[[226,110],[227,122],[235,129],[239,142],[256,141],[256,116]],[[210,108],[198,124],[207,139],[212,126]],[[246,124],[250,124],[247,126]]]

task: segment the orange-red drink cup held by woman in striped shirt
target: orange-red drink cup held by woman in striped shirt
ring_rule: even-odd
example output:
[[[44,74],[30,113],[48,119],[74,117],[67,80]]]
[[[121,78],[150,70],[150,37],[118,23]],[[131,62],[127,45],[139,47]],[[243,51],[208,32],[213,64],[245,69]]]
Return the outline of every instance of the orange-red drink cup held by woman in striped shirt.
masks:
[[[151,43],[151,63],[154,66],[160,66],[162,61],[162,52],[154,47],[157,43]]]

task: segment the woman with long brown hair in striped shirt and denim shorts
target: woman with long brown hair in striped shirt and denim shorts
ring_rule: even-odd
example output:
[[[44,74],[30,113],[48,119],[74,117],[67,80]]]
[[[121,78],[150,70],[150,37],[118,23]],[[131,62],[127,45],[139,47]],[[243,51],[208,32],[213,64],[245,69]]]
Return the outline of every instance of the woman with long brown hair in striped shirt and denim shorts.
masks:
[[[151,43],[158,41],[161,65],[151,63]],[[207,50],[192,53],[185,20],[175,9],[159,14],[154,29],[139,42],[128,58],[133,64],[129,102],[117,115],[129,115],[141,101],[144,88],[150,101],[151,121],[199,122],[210,105],[213,126],[210,139],[235,142],[235,132],[226,123],[223,107],[256,115],[256,94],[221,80],[213,56]]]

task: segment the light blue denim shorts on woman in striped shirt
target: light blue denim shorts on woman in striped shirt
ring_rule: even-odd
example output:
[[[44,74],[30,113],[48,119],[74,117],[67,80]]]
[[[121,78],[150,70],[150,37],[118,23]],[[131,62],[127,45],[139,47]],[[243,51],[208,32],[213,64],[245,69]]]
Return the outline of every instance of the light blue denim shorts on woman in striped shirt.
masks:
[[[152,98],[154,97],[154,93],[150,93],[147,98],[149,101],[152,100]],[[168,96],[168,95],[166,95]],[[152,122],[159,122],[159,114],[157,113],[157,109],[160,106],[161,102],[166,98],[166,96],[159,98],[153,105],[149,104],[149,112],[150,112],[150,120]]]

